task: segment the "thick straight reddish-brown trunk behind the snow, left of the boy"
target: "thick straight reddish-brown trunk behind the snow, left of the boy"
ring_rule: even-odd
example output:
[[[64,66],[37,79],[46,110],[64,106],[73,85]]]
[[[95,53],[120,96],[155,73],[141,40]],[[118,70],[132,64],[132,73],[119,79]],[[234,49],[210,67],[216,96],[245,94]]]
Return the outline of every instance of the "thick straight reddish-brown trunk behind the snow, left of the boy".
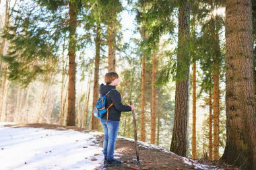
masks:
[[[75,1],[69,4],[69,87],[67,126],[75,126],[75,30],[77,25]]]

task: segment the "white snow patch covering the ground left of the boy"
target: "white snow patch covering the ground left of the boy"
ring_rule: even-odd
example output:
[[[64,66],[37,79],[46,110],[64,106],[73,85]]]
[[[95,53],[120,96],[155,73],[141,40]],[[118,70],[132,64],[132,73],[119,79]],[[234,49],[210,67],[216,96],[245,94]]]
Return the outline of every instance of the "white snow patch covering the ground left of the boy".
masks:
[[[0,124],[1,170],[88,170],[95,169],[104,161],[94,132],[7,128],[3,125]],[[94,158],[97,160],[92,161]]]

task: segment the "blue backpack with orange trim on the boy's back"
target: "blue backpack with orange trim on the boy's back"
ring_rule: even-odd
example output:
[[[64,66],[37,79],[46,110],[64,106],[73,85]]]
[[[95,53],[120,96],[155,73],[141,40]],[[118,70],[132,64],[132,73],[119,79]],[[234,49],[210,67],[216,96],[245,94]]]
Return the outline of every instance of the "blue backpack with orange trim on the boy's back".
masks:
[[[112,89],[110,89],[111,91]],[[108,93],[110,92],[108,91]],[[94,116],[96,118],[102,118],[103,116],[106,115],[106,122],[108,122],[108,110],[109,108],[113,105],[113,103],[111,103],[108,108],[105,108],[105,104],[106,104],[106,95],[108,94],[104,94],[104,95],[100,95],[100,98],[98,99],[95,107],[94,107]]]

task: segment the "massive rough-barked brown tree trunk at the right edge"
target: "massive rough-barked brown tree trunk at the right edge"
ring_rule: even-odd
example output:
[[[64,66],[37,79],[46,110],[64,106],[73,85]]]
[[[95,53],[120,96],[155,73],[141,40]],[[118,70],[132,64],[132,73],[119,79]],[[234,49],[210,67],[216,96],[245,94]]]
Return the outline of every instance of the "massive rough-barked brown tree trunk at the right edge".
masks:
[[[256,169],[252,4],[226,1],[226,147],[222,160]]]

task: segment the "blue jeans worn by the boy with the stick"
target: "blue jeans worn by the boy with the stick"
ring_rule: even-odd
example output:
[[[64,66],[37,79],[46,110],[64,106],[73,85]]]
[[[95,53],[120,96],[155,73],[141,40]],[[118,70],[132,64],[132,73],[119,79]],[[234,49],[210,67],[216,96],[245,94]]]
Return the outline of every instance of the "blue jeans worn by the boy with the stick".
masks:
[[[110,161],[114,158],[115,144],[119,130],[119,121],[100,119],[100,123],[104,130],[103,154],[106,160]]]

